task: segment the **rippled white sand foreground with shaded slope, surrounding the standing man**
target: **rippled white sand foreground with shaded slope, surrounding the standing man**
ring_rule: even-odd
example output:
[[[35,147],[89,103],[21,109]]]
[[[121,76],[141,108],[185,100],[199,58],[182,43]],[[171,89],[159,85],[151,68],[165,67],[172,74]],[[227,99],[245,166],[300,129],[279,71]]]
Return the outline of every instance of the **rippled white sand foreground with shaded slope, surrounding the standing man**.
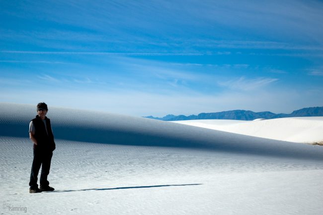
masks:
[[[29,194],[35,113],[0,104],[0,214],[323,214],[321,146],[65,108],[48,112],[56,191]]]

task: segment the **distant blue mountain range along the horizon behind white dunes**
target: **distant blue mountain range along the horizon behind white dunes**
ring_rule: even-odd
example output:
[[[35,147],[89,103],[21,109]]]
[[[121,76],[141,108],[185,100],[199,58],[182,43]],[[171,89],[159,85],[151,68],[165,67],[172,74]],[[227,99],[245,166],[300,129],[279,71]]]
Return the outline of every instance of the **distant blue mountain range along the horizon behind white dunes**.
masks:
[[[229,110],[213,113],[200,113],[198,115],[166,115],[164,117],[144,116],[146,118],[158,119],[164,121],[178,121],[178,120],[193,120],[193,119],[237,119],[237,120],[254,120],[257,118],[272,119],[284,117],[300,117],[300,116],[323,116],[323,107],[302,108],[294,110],[292,113],[273,113],[253,112],[250,110]]]

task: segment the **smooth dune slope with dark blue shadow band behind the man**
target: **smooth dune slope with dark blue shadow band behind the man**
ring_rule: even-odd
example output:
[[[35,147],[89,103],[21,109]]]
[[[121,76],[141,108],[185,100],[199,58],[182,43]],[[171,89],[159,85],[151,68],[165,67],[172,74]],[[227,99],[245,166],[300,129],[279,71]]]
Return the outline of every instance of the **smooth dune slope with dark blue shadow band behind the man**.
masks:
[[[323,160],[323,147],[233,134],[167,121],[49,107],[56,139],[119,145],[188,147]],[[0,103],[0,136],[28,137],[36,108]]]

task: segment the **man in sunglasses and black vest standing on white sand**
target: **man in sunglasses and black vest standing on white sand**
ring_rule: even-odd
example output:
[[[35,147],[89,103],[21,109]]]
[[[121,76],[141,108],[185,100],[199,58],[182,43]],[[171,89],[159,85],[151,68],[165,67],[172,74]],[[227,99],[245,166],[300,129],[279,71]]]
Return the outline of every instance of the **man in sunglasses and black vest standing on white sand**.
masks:
[[[54,135],[51,127],[51,121],[46,117],[48,112],[45,103],[37,105],[36,118],[30,121],[29,137],[34,143],[34,159],[31,166],[29,193],[40,193],[42,191],[54,191],[55,189],[49,186],[47,176],[51,167],[53,151],[55,150]],[[40,189],[37,184],[37,176],[42,166],[40,174]]]

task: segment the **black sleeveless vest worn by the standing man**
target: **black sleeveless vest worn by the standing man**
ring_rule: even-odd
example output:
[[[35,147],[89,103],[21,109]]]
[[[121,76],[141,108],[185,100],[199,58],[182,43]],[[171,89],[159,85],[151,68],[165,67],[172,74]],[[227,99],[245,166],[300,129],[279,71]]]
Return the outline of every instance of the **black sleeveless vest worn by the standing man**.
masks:
[[[43,120],[38,115],[36,115],[36,118],[32,120],[35,126],[34,136],[37,140],[36,148],[39,150],[54,151],[56,146],[54,142],[54,135],[52,132],[51,121],[47,117],[45,117],[45,120],[46,120],[47,132],[46,132],[46,128]]]

